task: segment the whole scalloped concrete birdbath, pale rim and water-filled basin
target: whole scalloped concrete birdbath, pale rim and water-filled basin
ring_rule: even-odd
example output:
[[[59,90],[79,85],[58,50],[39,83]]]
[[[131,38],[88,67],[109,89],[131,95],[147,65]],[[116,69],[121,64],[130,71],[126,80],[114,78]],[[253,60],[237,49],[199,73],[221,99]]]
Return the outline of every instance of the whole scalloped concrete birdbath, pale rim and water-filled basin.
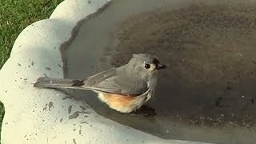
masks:
[[[249,0],[66,0],[22,31],[0,71],[1,142],[254,143],[255,15]],[[90,91],[33,87],[138,53],[168,65],[146,104],[154,116],[120,114]]]

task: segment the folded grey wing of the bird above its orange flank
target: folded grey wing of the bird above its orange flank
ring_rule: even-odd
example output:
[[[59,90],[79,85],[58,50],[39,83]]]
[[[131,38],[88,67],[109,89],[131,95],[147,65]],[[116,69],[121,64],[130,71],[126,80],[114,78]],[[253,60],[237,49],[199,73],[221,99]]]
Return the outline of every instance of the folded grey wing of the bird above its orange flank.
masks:
[[[138,96],[148,90],[146,82],[134,80],[125,74],[120,75],[114,68],[87,78],[84,86],[92,90],[130,96]]]

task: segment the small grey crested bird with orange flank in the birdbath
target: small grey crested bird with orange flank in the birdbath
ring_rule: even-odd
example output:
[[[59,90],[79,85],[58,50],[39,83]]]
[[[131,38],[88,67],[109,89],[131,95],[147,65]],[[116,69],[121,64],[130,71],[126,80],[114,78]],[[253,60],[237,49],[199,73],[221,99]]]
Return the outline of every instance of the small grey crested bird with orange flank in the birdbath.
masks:
[[[157,84],[157,72],[165,68],[150,54],[133,54],[126,65],[85,80],[40,77],[34,87],[93,90],[110,108],[130,113],[151,98]]]

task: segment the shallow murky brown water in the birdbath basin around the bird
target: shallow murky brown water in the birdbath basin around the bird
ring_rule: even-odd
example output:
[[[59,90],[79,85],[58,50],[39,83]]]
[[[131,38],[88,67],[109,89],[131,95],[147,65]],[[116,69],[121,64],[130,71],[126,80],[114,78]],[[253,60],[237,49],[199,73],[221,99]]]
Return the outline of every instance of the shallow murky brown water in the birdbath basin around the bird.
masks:
[[[169,68],[147,104],[154,118],[119,114],[90,91],[69,93],[106,118],[160,138],[254,143],[256,5],[214,2],[117,0],[79,22],[62,46],[66,78],[121,66],[131,54],[158,56]]]

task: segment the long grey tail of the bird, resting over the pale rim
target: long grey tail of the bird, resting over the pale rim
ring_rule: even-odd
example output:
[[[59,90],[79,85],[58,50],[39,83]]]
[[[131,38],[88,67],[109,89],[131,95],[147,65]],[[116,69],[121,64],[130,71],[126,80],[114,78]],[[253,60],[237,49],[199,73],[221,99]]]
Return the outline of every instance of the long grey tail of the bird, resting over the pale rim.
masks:
[[[34,87],[41,88],[67,88],[67,89],[79,89],[84,85],[83,80],[63,79],[63,78],[49,78],[39,77],[37,82],[34,83]]]

